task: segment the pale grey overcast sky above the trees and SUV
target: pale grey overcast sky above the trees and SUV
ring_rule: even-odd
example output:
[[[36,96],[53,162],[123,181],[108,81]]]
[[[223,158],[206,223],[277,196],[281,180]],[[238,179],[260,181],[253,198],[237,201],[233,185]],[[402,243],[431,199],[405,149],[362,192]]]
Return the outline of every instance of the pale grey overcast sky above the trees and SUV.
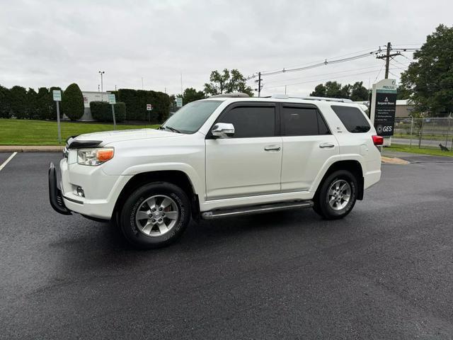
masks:
[[[203,89],[213,69],[297,67],[377,49],[416,47],[439,23],[452,26],[453,1],[6,1],[0,0],[0,84],[120,88],[180,93]],[[406,57],[411,59],[411,54]],[[407,67],[396,57],[390,77]],[[399,64],[398,64],[399,63]],[[332,64],[263,77],[263,94],[309,94],[327,80],[372,84],[382,60]],[[379,70],[382,71],[379,73]],[[396,77],[398,78],[398,77]],[[253,79],[249,81],[253,87]]]

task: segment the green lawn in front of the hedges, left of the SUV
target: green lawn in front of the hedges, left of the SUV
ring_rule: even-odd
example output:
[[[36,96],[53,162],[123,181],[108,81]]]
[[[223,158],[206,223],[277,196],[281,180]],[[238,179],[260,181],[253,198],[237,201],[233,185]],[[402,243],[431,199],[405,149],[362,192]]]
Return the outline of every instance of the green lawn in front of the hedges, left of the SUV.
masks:
[[[117,130],[157,128],[159,125],[117,124]],[[69,136],[83,133],[110,131],[113,123],[62,122],[62,144]],[[58,145],[57,122],[44,120],[0,119],[0,145]]]

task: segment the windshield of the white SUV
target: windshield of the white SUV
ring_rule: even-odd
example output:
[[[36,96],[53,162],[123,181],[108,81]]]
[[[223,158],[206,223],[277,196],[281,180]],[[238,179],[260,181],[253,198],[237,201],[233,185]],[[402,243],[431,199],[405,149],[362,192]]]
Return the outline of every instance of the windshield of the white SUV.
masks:
[[[193,101],[180,108],[162,128],[181,133],[197,132],[222,101]]]

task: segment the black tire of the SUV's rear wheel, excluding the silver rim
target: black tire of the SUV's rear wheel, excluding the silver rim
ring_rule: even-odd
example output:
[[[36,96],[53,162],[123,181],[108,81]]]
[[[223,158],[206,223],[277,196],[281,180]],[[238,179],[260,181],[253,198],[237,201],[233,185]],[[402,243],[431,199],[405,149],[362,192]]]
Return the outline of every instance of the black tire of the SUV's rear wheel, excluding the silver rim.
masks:
[[[331,208],[331,205],[328,203],[328,189],[331,187],[332,183],[343,179],[347,181],[351,188],[351,200],[348,205],[345,206],[342,210],[334,210]],[[354,208],[355,202],[357,201],[357,179],[353,174],[347,170],[338,170],[333,172],[326,178],[326,181],[323,182],[321,192],[319,195],[319,210],[321,210],[322,215],[328,219],[337,219],[342,218],[348,215],[352,208]]]

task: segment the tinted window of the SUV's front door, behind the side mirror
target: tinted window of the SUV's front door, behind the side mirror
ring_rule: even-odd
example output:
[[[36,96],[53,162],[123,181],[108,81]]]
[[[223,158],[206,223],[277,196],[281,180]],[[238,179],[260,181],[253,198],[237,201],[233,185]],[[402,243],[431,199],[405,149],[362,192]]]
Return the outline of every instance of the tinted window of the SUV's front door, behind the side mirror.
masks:
[[[232,108],[218,123],[234,125],[234,137],[272,137],[275,135],[275,108],[243,106]]]

